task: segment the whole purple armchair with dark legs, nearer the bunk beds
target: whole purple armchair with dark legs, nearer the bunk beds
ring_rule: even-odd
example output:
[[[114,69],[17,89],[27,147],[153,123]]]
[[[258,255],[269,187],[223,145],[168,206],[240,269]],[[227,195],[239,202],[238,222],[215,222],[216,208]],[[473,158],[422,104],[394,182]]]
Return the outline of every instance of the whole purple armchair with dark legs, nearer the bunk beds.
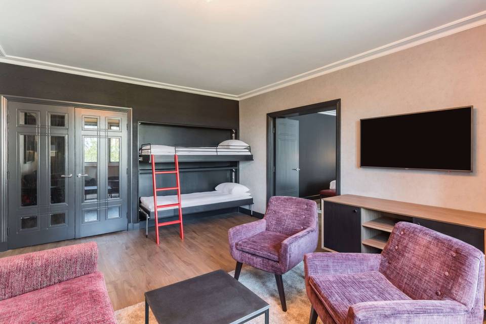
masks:
[[[282,309],[287,311],[282,274],[317,247],[317,208],[312,200],[274,196],[263,219],[228,231],[230,253],[236,260],[235,279],[243,263],[275,274]]]

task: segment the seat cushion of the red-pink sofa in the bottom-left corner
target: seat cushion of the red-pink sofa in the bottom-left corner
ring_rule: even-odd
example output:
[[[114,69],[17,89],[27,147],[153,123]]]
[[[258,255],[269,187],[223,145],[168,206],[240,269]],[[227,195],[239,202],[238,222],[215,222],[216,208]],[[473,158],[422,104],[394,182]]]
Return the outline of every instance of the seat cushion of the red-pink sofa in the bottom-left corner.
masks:
[[[0,301],[2,323],[116,324],[101,272]]]

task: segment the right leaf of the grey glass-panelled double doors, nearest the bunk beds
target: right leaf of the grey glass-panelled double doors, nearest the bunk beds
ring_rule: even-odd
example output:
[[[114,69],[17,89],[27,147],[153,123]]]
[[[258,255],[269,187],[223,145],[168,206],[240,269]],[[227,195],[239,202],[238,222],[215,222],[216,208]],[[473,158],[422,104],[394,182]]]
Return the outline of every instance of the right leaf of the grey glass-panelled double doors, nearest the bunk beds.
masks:
[[[76,237],[127,229],[127,113],[76,108]]]

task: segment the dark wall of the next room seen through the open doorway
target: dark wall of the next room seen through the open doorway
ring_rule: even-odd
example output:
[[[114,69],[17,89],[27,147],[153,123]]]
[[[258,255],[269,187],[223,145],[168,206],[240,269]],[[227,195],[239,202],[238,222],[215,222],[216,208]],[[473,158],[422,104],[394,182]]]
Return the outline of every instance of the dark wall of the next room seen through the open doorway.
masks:
[[[336,179],[336,116],[312,113],[299,120],[299,196],[318,195]]]

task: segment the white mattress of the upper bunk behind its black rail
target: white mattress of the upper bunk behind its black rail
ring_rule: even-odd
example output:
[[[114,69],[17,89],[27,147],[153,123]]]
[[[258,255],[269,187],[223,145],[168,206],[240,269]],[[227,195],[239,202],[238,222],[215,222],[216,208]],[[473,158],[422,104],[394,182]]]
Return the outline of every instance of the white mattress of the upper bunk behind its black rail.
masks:
[[[155,155],[250,155],[249,147],[231,148],[216,146],[202,146],[202,147],[184,147],[184,146],[167,146],[167,145],[150,145],[142,147],[141,155],[155,154]]]

